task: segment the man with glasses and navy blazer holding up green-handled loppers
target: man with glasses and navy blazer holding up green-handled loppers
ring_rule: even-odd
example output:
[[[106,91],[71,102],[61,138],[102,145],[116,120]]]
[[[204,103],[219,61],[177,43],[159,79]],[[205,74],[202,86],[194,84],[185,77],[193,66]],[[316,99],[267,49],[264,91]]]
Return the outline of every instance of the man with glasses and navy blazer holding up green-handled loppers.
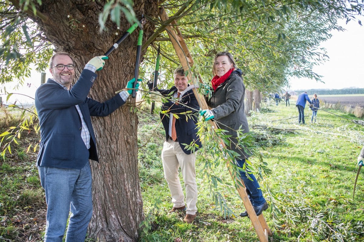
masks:
[[[102,69],[106,59],[92,58],[70,88],[75,78],[74,62],[69,54],[56,53],[50,59],[53,78],[35,93],[40,123],[37,166],[47,202],[46,242],[62,242],[70,211],[66,242],[84,241],[86,237],[92,216],[89,159],[98,161],[90,116],[107,116],[122,106],[135,82],[131,79],[127,90],[106,102],[87,98],[97,77],[95,71]]]

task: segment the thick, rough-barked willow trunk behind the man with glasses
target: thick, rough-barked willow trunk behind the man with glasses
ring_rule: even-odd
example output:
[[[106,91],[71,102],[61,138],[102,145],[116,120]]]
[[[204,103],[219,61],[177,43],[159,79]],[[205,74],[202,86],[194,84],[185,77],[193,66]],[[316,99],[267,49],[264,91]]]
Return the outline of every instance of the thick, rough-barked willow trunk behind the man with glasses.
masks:
[[[13,4],[16,2],[19,1]],[[37,6],[37,16],[29,16],[55,46],[55,52],[67,52],[74,57],[76,77],[88,60],[103,55],[130,27],[122,15],[119,30],[108,21],[109,31],[100,33],[98,16],[105,3],[105,0],[42,0],[42,5]],[[135,1],[134,11],[139,18],[142,14],[156,16],[157,0]],[[154,25],[147,22],[143,40],[153,31]],[[97,72],[91,98],[106,101],[134,77],[137,39],[138,29],[110,54],[103,70]],[[137,241],[138,225],[143,220],[137,164],[138,118],[130,112],[135,100],[129,100],[130,103],[107,117],[92,118],[100,162],[90,161],[94,213],[88,234],[98,241]]]

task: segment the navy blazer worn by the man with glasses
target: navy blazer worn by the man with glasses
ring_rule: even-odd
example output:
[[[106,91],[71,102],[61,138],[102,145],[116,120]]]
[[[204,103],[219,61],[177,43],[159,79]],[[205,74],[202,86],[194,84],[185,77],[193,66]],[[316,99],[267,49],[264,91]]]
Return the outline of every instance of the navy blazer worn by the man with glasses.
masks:
[[[124,100],[119,94],[104,103],[87,98],[96,77],[94,72],[83,70],[70,90],[63,89],[52,79],[37,89],[35,107],[40,123],[37,165],[81,169],[88,159],[99,161],[90,116],[107,116],[122,106]],[[90,149],[81,138],[82,123],[77,104],[90,131]]]

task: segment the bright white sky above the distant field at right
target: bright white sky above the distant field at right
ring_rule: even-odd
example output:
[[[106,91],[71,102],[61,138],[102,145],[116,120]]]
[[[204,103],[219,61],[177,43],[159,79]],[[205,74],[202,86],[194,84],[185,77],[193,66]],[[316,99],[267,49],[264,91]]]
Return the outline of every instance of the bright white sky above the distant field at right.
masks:
[[[361,21],[364,24],[364,21]],[[364,26],[357,21],[339,24],[347,29],[344,32],[333,31],[332,37],[321,44],[326,48],[328,61],[314,67],[322,75],[325,83],[308,78],[290,78],[290,89],[343,89],[346,87],[364,88]]]

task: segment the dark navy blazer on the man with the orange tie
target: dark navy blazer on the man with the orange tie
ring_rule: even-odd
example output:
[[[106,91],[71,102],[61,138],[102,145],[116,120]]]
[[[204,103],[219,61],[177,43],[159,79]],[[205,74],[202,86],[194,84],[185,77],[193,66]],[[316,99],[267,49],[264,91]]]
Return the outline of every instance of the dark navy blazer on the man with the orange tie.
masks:
[[[148,86],[149,86],[149,89],[151,90],[153,87],[153,83],[148,83]],[[158,88],[155,88],[154,90],[159,91],[165,97],[167,97],[167,96],[173,97],[173,94],[175,92],[177,92],[177,87],[173,86],[169,90],[158,89]],[[179,146],[182,148],[183,152],[185,152],[187,155],[189,155],[202,147],[201,140],[197,136],[196,123],[197,123],[198,111],[195,111],[195,110],[199,110],[200,106],[197,102],[197,99],[196,99],[195,94],[193,93],[193,90],[191,89],[191,87],[187,87],[186,90],[183,91],[182,97],[180,97],[179,102],[186,104],[188,107],[183,106],[183,105],[177,105],[173,101],[168,101],[166,103],[163,103],[163,106],[162,106],[162,110],[167,110],[167,113],[166,114],[161,113],[160,116],[161,116],[163,127],[166,131],[166,140],[168,140],[169,139],[169,134],[168,134],[169,120],[170,120],[169,114],[170,113],[179,114],[178,115],[179,118],[176,119],[176,124],[175,124],[177,139],[178,139]],[[191,108],[194,108],[195,110],[192,110]],[[182,112],[187,112],[187,111],[191,111],[191,113],[189,113],[188,116],[185,114],[181,114]],[[191,115],[191,114],[193,114],[193,115]],[[186,116],[187,116],[187,121],[186,121]],[[189,145],[189,144],[191,144],[191,142],[194,142],[195,144],[197,144],[198,147],[196,147],[194,150],[193,149],[187,150],[185,148],[186,145],[183,145],[183,144]]]

